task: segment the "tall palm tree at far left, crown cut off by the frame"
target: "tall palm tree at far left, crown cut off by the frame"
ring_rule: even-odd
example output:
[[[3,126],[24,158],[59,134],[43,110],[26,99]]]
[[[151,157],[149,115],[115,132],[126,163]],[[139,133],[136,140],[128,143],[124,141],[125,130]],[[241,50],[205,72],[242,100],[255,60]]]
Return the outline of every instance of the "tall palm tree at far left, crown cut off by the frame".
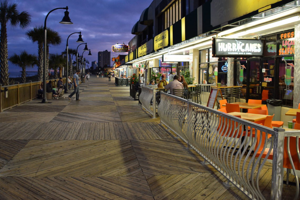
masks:
[[[8,85],[8,53],[7,53],[7,22],[10,25],[19,25],[20,28],[26,28],[31,22],[31,17],[27,11],[19,13],[17,10],[18,4],[8,4],[7,0],[0,2],[0,69],[1,69],[1,84]]]

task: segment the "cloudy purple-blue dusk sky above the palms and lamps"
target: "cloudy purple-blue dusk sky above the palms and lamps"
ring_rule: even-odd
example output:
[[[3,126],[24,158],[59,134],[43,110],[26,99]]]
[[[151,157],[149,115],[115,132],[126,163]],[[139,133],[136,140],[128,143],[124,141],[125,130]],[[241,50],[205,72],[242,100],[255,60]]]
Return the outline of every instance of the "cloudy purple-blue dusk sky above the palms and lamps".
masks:
[[[35,26],[44,26],[47,13],[57,7],[69,7],[69,16],[73,24],[64,25],[59,22],[64,16],[63,9],[54,10],[49,14],[46,25],[57,31],[62,37],[59,46],[50,46],[51,54],[61,54],[66,48],[67,37],[74,32],[82,32],[82,39],[88,43],[92,56],[88,52],[83,54],[87,60],[98,62],[98,51],[111,51],[111,46],[116,42],[128,44],[134,37],[131,34],[133,25],[140,19],[140,15],[153,0],[8,0],[8,3],[17,3],[19,12],[28,11],[32,17],[29,28],[20,29],[19,26],[11,27],[7,24],[8,56],[13,53],[20,54],[26,50],[30,54],[38,56],[38,44],[32,43],[25,33]],[[76,49],[80,43],[76,43],[78,34],[73,34],[68,40],[69,49]],[[79,51],[80,49],[80,51]],[[81,55],[84,45],[79,46]],[[111,57],[118,54],[111,51]],[[75,56],[73,56],[73,61]],[[91,64],[89,64],[91,66]],[[21,68],[9,63],[9,72],[20,71]],[[36,71],[37,67],[28,69]]]

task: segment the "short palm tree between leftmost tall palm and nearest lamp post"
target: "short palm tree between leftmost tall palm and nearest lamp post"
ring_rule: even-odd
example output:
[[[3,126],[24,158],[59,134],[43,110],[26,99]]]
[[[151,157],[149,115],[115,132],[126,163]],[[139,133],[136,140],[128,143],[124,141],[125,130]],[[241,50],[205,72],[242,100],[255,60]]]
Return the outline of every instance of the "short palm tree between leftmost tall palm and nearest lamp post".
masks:
[[[33,67],[38,64],[38,59],[33,54],[28,54],[25,50],[20,55],[14,53],[9,57],[9,61],[22,68],[22,83],[26,82],[26,67]]]

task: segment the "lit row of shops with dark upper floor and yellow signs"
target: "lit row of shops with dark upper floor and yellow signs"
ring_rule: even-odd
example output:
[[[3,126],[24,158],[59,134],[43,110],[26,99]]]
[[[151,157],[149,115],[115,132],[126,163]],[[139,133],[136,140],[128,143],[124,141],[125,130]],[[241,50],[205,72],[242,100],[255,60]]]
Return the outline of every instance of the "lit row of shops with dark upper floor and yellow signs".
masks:
[[[244,101],[264,93],[285,113],[300,103],[299,11],[294,0],[154,0],[125,61],[146,63],[148,77],[189,69],[194,84],[240,85]]]

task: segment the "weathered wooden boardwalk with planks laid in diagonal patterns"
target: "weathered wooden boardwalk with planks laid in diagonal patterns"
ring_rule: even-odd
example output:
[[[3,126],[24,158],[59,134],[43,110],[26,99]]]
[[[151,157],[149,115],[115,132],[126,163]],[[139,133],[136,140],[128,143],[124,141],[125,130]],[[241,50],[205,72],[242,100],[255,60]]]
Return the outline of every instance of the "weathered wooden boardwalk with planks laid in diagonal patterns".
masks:
[[[92,76],[79,98],[0,113],[1,200],[247,199],[133,101],[129,87]]]

